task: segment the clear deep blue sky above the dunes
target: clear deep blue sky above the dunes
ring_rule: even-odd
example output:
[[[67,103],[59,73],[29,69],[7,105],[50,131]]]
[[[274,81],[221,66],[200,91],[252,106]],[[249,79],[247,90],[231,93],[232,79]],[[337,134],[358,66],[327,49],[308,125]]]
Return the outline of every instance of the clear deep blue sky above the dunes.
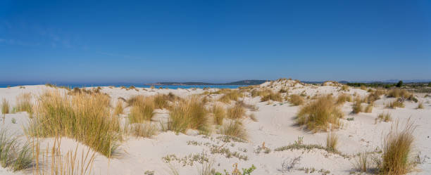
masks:
[[[0,1],[0,82],[431,79],[429,1]]]

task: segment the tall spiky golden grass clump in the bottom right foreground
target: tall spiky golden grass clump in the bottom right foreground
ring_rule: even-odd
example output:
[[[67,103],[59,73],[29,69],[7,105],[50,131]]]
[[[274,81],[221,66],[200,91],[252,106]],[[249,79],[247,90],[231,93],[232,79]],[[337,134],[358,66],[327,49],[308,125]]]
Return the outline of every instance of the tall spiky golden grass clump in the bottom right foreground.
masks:
[[[412,155],[415,129],[410,119],[402,129],[399,129],[399,122],[392,125],[383,139],[382,159],[377,161],[381,174],[406,174],[416,165]]]

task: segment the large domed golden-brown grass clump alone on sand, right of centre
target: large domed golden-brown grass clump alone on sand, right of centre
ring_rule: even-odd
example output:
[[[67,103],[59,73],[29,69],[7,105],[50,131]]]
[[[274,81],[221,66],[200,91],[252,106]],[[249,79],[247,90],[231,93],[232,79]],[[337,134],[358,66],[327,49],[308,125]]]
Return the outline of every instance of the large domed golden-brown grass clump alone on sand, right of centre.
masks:
[[[344,116],[332,96],[320,96],[299,110],[296,122],[311,131],[326,131],[329,127],[338,128],[339,118]]]

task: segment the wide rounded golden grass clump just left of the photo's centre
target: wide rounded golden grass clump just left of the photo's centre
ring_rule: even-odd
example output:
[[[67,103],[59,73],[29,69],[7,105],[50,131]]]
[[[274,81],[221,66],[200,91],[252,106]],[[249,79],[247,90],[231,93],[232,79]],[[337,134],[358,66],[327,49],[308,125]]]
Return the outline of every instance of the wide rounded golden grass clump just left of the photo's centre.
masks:
[[[184,133],[187,129],[208,130],[208,111],[197,97],[179,101],[170,109],[168,129]]]

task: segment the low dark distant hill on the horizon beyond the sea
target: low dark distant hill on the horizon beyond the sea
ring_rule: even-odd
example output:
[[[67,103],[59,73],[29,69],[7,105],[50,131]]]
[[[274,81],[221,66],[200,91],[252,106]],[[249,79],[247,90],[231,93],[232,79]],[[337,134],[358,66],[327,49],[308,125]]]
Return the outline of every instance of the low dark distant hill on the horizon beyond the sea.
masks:
[[[247,80],[241,80],[237,82],[229,82],[229,83],[206,83],[206,82],[157,82],[157,83],[151,83],[151,84],[145,84],[145,85],[164,85],[164,86],[184,86],[184,85],[256,85],[256,84],[263,84],[264,82],[267,82],[268,80],[256,80],[256,79],[247,79]]]

